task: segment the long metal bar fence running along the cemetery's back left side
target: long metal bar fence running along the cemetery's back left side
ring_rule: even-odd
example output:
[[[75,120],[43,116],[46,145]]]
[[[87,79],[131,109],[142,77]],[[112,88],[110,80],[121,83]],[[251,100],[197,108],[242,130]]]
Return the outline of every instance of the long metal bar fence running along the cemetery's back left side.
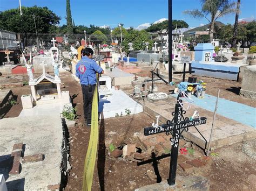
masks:
[[[52,39],[55,39],[56,46],[65,47],[66,44],[74,44],[76,47],[83,43],[87,44],[111,44],[114,42],[120,42],[120,36],[109,35],[93,35],[93,34],[64,34],[64,33],[13,33],[9,31],[0,30],[0,49],[17,49],[18,42],[20,46],[32,47],[37,46],[39,48],[50,48],[52,47]],[[155,38],[151,34],[150,39]],[[125,37],[123,36],[124,40]]]

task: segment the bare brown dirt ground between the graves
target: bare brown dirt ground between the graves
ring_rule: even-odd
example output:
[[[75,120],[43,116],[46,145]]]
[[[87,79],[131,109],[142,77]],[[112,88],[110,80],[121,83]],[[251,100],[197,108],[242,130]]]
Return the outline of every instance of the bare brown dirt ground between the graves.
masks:
[[[73,106],[77,109],[78,115],[77,125],[69,129],[71,156],[69,161],[72,169],[65,190],[82,190],[84,159],[89,143],[90,128],[87,128],[83,122],[83,99],[79,84],[72,79],[70,73],[61,73],[60,78],[65,85],[63,90],[70,91]],[[256,107],[255,100],[249,100],[238,95],[241,83],[208,77],[200,77],[200,79],[207,83],[207,94],[216,96],[217,90],[220,88],[221,98]],[[17,95],[17,104],[10,109],[5,117],[18,116],[22,110],[21,95],[30,93],[29,86],[11,89]],[[165,93],[170,93],[169,90],[173,88],[163,84],[163,86],[159,86],[159,89]],[[154,119],[145,113],[100,121],[98,157],[92,190],[134,190],[141,186],[156,183],[156,180],[151,180],[146,175],[148,170],[158,171],[161,180],[166,180],[169,177],[170,154],[161,157],[157,155],[157,162],[150,161],[139,166],[137,162],[126,161],[123,158],[113,158],[109,155],[109,144],[111,143],[132,143],[140,147],[140,142],[134,136],[134,133],[141,132],[143,128],[150,126],[153,121]],[[252,146],[254,154],[255,143],[255,140],[247,143]],[[238,143],[218,148],[214,151],[214,153],[218,153],[218,156],[211,157],[211,162],[206,166],[185,172],[178,166],[177,174],[181,176],[205,176],[210,179],[211,190],[255,190],[255,159],[245,154],[242,149],[245,144]],[[192,147],[194,149],[194,154],[186,155],[188,159],[204,155],[201,148],[185,142],[185,140],[181,140],[180,147]],[[144,154],[151,158],[150,153]]]

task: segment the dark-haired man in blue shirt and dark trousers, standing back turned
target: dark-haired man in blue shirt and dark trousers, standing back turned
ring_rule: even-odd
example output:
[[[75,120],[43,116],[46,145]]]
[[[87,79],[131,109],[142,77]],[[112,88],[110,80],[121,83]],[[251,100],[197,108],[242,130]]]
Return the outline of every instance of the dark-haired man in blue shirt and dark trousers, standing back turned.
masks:
[[[84,48],[82,59],[76,65],[76,76],[80,79],[84,101],[84,118],[91,125],[92,99],[96,87],[96,73],[104,74],[104,70],[92,60],[93,50]]]

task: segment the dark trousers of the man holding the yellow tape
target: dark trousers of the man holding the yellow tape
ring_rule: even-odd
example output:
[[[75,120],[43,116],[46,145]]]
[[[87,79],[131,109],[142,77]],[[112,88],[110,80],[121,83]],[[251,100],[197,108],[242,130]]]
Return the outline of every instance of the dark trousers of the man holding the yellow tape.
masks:
[[[82,84],[82,93],[83,93],[83,101],[84,101],[84,118],[86,119],[87,123],[91,123],[91,114],[92,114],[92,100],[93,94],[96,85],[89,86]]]

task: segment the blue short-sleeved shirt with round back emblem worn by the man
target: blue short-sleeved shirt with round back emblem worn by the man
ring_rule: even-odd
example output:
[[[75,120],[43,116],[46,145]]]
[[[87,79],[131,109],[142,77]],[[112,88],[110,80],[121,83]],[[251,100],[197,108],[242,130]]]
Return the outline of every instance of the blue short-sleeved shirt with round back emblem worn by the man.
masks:
[[[76,76],[80,79],[83,85],[96,84],[96,73],[102,73],[102,68],[97,65],[96,61],[83,56],[76,65]]]

